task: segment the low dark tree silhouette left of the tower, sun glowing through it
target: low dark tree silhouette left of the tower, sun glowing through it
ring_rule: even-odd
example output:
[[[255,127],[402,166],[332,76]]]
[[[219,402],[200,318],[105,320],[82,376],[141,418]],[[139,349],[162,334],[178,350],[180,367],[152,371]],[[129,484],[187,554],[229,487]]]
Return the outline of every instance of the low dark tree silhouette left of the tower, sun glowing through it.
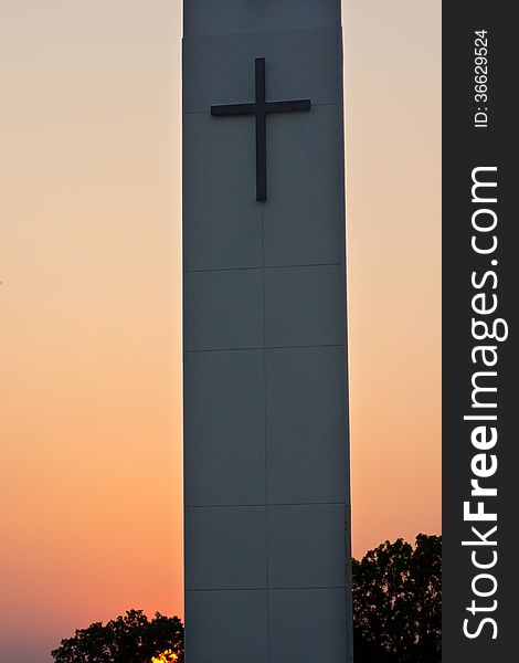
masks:
[[[149,621],[142,610],[128,610],[106,625],[96,622],[76,630],[51,654],[55,663],[150,663],[168,650],[182,663],[183,627],[179,618],[156,612]]]

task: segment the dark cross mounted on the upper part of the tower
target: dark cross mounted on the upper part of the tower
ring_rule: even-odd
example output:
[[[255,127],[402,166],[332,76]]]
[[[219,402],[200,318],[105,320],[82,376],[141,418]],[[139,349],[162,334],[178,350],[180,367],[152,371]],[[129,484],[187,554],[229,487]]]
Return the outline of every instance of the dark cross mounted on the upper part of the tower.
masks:
[[[211,106],[211,115],[255,115],[256,116],[256,200],[267,199],[267,113],[290,113],[309,110],[310,99],[289,102],[266,101],[265,57],[256,57],[256,102],[254,104],[227,104]]]

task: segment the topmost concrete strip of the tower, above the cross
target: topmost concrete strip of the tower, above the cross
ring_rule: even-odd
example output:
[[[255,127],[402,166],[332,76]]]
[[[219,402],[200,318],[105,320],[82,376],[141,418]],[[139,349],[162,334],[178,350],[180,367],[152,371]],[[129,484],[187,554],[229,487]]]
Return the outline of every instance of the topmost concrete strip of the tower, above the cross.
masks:
[[[327,28],[340,22],[339,0],[188,0],[184,35]]]

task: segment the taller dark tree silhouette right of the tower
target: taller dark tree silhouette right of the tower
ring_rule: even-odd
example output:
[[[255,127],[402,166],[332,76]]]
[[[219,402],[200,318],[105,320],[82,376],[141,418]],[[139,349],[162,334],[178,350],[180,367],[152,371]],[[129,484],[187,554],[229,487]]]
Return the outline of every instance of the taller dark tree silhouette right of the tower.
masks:
[[[356,663],[442,660],[442,537],[385,541],[353,559]]]

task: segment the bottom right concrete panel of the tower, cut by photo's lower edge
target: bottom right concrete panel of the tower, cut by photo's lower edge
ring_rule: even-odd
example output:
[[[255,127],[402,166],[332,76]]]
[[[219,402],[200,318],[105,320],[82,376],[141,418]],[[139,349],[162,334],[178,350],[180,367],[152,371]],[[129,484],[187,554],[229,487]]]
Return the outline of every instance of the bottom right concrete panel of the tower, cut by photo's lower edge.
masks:
[[[345,663],[343,589],[269,592],[268,663]]]

